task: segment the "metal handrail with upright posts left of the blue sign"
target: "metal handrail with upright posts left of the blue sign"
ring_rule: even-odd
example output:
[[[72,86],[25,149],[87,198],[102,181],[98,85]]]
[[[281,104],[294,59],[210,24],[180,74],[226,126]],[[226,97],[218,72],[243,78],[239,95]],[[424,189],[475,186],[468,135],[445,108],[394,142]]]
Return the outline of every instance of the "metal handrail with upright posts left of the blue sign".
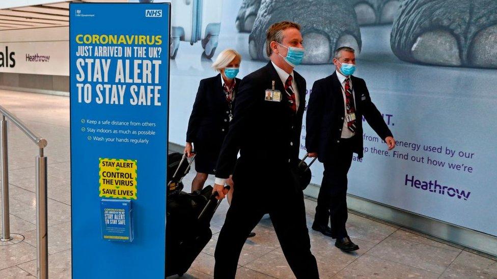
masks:
[[[10,241],[9,218],[9,157],[7,144],[7,121],[12,121],[40,150],[35,157],[36,166],[36,275],[38,279],[48,278],[48,222],[47,222],[47,157],[43,149],[47,146],[46,139],[33,133],[15,115],[0,106],[0,172],[2,175],[2,237],[0,241]]]

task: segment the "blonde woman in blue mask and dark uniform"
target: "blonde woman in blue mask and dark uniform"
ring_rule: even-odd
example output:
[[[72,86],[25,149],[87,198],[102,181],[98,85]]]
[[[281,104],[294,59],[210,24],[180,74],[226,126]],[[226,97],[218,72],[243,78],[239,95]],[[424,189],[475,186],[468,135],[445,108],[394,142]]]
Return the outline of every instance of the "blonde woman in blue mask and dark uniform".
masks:
[[[240,79],[236,78],[240,63],[238,52],[225,49],[212,64],[219,74],[200,81],[188,122],[184,151],[188,157],[193,156],[192,150],[197,154],[197,176],[191,183],[191,192],[201,190],[208,175],[215,172],[217,157],[233,117],[236,90],[240,83]],[[228,181],[228,184],[232,182]]]

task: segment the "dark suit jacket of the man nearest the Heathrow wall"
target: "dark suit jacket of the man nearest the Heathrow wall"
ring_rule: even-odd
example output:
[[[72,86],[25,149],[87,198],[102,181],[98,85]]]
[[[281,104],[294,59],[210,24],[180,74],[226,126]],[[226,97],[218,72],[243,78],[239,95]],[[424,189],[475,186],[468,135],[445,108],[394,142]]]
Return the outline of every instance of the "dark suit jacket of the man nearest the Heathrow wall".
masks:
[[[385,139],[392,132],[383,120],[383,116],[371,102],[368,87],[364,79],[350,76],[354,90],[356,131],[353,152],[363,157],[363,115],[373,130]],[[345,105],[337,72],[323,79],[316,80],[309,97],[306,116],[306,148],[308,152],[317,152],[320,162],[333,160],[335,147],[342,136]]]

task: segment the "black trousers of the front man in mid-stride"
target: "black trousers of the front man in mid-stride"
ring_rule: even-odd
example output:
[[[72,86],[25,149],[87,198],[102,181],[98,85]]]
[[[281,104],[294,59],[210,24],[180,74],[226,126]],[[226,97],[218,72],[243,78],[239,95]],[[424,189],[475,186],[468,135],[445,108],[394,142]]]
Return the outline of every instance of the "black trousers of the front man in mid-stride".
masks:
[[[255,175],[233,175],[235,190],[217,240],[214,278],[235,278],[238,258],[248,234],[269,213],[283,253],[297,278],[319,278],[306,225],[303,194],[293,172],[254,180]],[[277,178],[277,179],[273,179]],[[263,184],[260,182],[264,181]],[[257,184],[256,184],[257,183]]]

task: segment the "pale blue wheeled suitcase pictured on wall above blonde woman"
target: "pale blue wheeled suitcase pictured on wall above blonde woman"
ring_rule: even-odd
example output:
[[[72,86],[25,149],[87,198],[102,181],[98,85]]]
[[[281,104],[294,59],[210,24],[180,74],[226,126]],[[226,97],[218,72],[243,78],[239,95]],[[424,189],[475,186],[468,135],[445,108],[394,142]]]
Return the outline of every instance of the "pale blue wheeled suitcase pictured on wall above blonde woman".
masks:
[[[201,41],[204,54],[212,58],[219,39],[222,0],[171,1],[171,59],[176,57],[180,41],[190,45]]]

